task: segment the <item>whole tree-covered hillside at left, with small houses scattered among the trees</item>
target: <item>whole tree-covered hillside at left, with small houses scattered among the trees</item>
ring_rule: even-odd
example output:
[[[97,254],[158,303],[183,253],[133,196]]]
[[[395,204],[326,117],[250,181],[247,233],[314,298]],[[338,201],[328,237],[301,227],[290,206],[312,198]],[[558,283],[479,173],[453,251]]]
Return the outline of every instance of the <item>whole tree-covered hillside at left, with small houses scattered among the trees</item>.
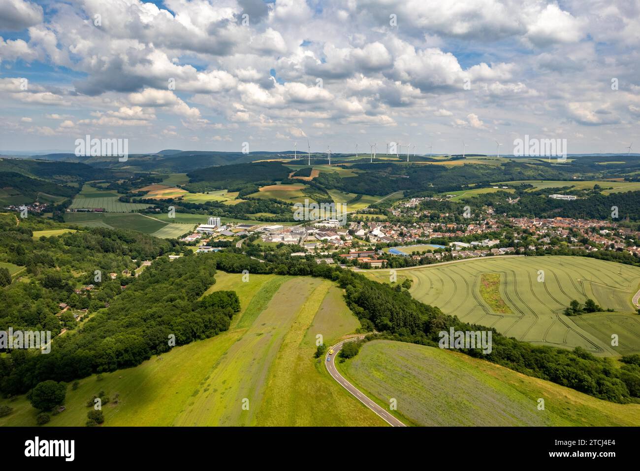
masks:
[[[0,217],[0,253],[28,272],[26,281],[0,289],[0,330],[48,330],[53,338],[49,354],[13,349],[0,356],[5,395],[47,379],[70,381],[138,365],[173,345],[217,335],[239,310],[234,292],[200,299],[215,283],[209,254],[186,249],[170,261],[164,254],[183,249],[175,241],[104,228],[33,239],[32,229],[53,224],[44,221],[33,217],[17,225],[13,215]],[[142,260],[154,261],[132,276]],[[88,320],[79,323],[72,312]],[[62,329],[67,333],[58,336]]]

